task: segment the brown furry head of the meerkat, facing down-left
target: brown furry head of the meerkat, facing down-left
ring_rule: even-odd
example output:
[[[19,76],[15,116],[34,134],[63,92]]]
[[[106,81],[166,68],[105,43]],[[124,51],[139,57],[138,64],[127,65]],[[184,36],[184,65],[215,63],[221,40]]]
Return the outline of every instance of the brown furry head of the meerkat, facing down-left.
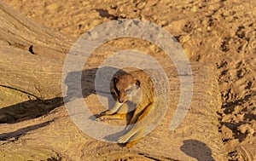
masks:
[[[113,88],[119,103],[125,103],[137,94],[137,89],[140,88],[140,81],[130,74],[125,74],[113,78]]]

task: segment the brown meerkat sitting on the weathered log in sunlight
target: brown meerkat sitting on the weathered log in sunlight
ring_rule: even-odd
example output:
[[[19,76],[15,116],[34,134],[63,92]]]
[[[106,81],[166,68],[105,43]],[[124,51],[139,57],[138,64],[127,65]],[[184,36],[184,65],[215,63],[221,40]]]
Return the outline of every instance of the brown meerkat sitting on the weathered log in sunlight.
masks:
[[[127,101],[133,101],[132,98],[140,97],[131,120],[126,127],[128,131],[125,135],[119,137],[119,143],[126,143],[125,147],[132,147],[139,141],[150,121],[147,118],[148,113],[154,108],[154,83],[143,71],[135,71],[129,74],[120,75],[113,78],[113,91],[116,95],[116,103],[113,108],[103,112],[100,119],[126,118],[127,113],[122,111],[122,106]]]

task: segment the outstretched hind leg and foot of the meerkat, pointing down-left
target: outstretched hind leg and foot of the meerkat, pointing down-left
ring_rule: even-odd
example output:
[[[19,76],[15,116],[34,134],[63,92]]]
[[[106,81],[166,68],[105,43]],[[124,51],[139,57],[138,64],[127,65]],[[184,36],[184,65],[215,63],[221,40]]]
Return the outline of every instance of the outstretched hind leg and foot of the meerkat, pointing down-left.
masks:
[[[125,134],[119,138],[119,143],[125,143],[125,142],[131,140],[131,138],[132,138],[133,141],[131,141],[131,143],[130,142],[127,143],[127,145],[126,145],[126,147],[131,147],[134,144],[136,144],[137,141],[139,141],[143,137],[144,131],[147,126],[147,124],[146,124],[147,121],[142,120],[142,119],[148,115],[152,106],[153,106],[152,104],[146,106],[146,108],[143,110],[143,113],[137,118],[137,124],[134,124],[132,129],[127,134]],[[136,118],[134,118],[134,120],[136,120]]]

